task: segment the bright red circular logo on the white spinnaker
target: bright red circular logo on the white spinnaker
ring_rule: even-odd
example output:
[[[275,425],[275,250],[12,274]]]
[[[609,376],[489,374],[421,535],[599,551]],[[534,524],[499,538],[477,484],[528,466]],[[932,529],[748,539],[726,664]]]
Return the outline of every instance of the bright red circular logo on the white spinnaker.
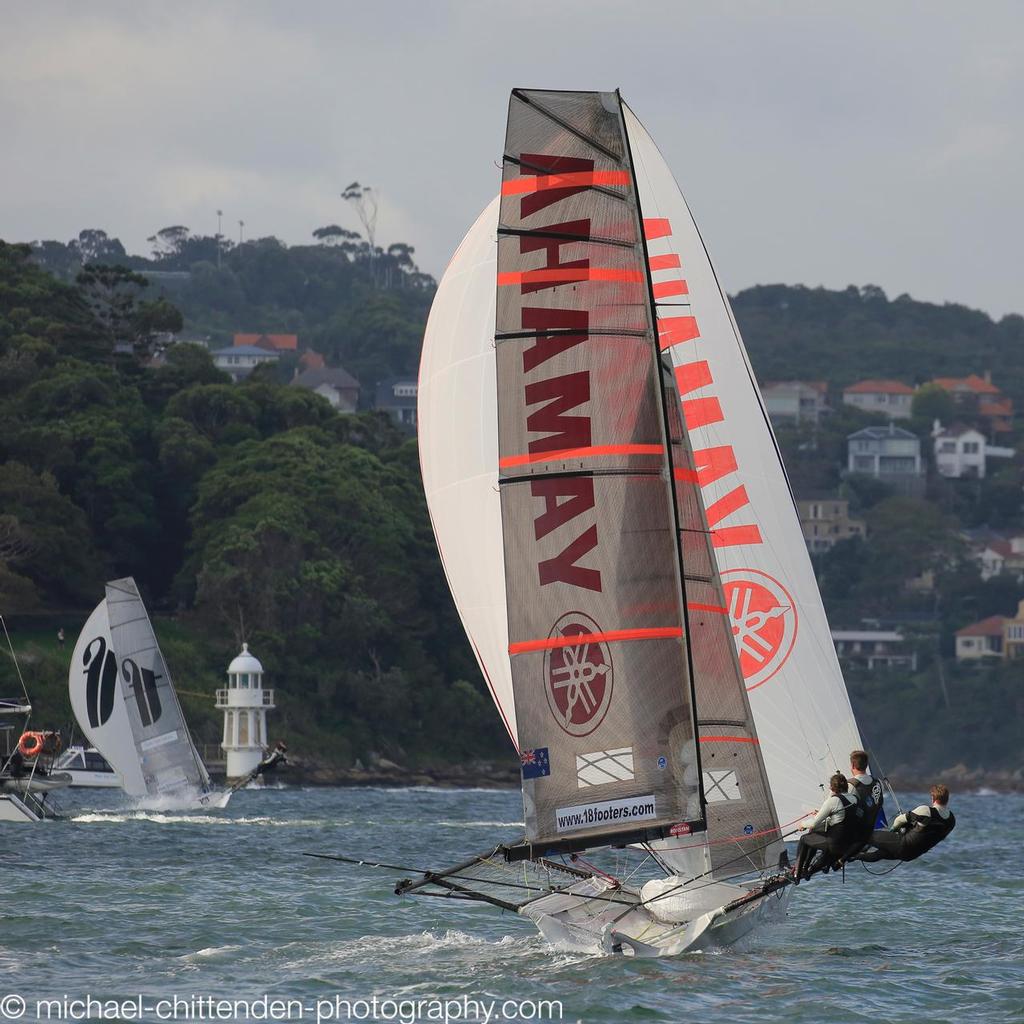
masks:
[[[797,606],[790,592],[760,569],[726,569],[722,587],[748,690],[768,682],[797,641]]]

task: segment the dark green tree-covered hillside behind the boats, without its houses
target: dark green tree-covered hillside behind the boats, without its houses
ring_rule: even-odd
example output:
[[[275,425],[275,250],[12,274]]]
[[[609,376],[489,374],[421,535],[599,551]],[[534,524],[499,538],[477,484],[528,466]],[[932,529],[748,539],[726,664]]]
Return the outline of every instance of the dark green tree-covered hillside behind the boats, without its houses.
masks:
[[[228,245],[172,227],[145,257],[98,230],[0,245],[0,611],[38,718],[70,721],[74,638],[102,582],[131,574],[203,741],[219,736],[212,694],[244,637],[278,692],[273,734],[319,760],[508,758],[434,549],[415,439],[380,414],[336,413],[280,367],[231,384],[200,345],[153,360],[169,334],[216,347],[289,332],[365,384],[414,372],[433,282],[412,248],[314,233]],[[734,307],[762,380],[838,393],[863,377],[991,370],[1024,401],[1020,316],[876,288],[766,286]],[[842,494],[867,523],[816,557],[829,615],[902,624],[919,653],[912,677],[850,675],[866,735],[888,768],[1019,768],[1019,673],[951,657],[954,630],[1024,597],[1010,573],[982,580],[963,537],[1024,530],[1019,457],[901,497],[841,472],[847,434],[878,420],[833,406],[813,428],[778,431],[797,494]],[[927,439],[935,409],[919,406],[909,425]],[[929,574],[934,587],[913,585]],[[16,685],[0,659],[0,692]]]

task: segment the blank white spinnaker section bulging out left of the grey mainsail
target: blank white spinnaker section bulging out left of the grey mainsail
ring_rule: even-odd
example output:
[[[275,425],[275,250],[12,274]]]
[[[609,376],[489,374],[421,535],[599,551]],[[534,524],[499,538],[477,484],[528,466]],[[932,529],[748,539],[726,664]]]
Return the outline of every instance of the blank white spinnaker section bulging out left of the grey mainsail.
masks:
[[[420,357],[418,426],[427,507],[456,607],[490,695],[516,735],[498,495],[496,199],[437,286]]]

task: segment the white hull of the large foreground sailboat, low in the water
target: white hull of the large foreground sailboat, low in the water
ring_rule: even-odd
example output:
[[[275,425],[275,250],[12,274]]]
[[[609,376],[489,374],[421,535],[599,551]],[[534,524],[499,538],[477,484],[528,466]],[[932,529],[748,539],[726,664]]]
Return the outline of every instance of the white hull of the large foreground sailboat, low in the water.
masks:
[[[755,887],[716,885],[716,896],[742,899]],[[626,956],[676,956],[731,946],[757,928],[785,918],[792,886],[734,909],[728,904],[696,912],[688,921],[658,920],[635,889],[615,889],[589,879],[561,893],[543,896],[519,910],[558,949]],[[725,891],[728,890],[728,893]],[[604,898],[595,898],[604,897]],[[615,902],[609,902],[614,899]],[[630,908],[625,903],[633,902]]]

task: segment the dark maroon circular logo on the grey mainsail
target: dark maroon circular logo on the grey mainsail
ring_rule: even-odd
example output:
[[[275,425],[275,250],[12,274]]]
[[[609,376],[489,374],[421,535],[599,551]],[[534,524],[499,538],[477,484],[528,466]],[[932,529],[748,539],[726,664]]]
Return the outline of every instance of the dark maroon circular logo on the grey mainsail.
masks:
[[[559,641],[544,654],[548,707],[570,736],[592,733],[611,703],[611,653],[606,643],[594,639],[600,633],[593,618],[570,611],[548,635],[549,640]]]

